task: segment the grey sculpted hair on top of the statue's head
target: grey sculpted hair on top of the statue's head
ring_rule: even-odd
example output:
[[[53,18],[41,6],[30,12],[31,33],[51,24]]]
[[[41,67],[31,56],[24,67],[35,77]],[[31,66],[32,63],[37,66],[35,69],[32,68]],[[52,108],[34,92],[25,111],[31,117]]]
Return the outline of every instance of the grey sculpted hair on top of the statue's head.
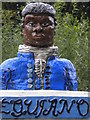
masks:
[[[56,26],[56,11],[55,9],[46,3],[36,2],[36,3],[29,3],[25,6],[22,10],[22,24],[21,27],[23,28],[24,18],[27,14],[35,14],[35,15],[49,15],[54,18],[54,24]]]

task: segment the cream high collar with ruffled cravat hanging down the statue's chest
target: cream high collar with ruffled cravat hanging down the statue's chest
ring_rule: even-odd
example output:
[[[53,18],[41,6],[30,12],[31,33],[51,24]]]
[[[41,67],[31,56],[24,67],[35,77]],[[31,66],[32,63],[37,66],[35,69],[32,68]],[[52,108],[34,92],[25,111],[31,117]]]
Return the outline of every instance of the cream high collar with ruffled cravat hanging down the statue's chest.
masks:
[[[57,56],[58,47],[50,46],[47,48],[32,47],[27,45],[19,45],[18,52],[33,53],[35,60],[35,73],[38,78],[43,78],[46,60],[49,56]],[[37,71],[39,70],[39,71]]]

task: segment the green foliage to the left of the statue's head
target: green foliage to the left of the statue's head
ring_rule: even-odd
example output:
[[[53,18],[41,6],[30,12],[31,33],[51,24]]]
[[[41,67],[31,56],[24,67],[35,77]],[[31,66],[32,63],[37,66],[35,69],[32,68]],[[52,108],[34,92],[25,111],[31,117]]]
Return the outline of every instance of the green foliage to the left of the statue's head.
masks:
[[[2,10],[2,61],[16,56],[18,45],[22,43],[21,23],[17,22],[17,18],[21,19],[16,11]]]

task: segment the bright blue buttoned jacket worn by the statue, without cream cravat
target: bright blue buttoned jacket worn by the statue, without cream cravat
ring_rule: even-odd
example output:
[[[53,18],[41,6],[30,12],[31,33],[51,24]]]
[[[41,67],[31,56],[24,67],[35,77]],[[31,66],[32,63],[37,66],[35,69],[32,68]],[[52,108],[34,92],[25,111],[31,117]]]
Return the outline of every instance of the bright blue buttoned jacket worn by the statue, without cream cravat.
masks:
[[[34,73],[33,53],[20,53],[0,65],[0,89],[39,90],[40,82]],[[42,81],[42,80],[41,80]],[[44,77],[44,90],[77,90],[73,64],[67,59],[49,56]]]

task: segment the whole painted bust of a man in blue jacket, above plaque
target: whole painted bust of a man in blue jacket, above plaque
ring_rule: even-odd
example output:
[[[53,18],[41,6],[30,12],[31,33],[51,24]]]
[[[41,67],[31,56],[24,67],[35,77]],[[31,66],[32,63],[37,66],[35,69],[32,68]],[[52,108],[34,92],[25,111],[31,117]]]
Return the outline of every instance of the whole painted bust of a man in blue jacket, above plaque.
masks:
[[[58,58],[53,45],[56,18],[54,8],[45,3],[29,3],[22,10],[24,44],[17,57],[0,65],[3,90],[77,90],[70,60]]]

